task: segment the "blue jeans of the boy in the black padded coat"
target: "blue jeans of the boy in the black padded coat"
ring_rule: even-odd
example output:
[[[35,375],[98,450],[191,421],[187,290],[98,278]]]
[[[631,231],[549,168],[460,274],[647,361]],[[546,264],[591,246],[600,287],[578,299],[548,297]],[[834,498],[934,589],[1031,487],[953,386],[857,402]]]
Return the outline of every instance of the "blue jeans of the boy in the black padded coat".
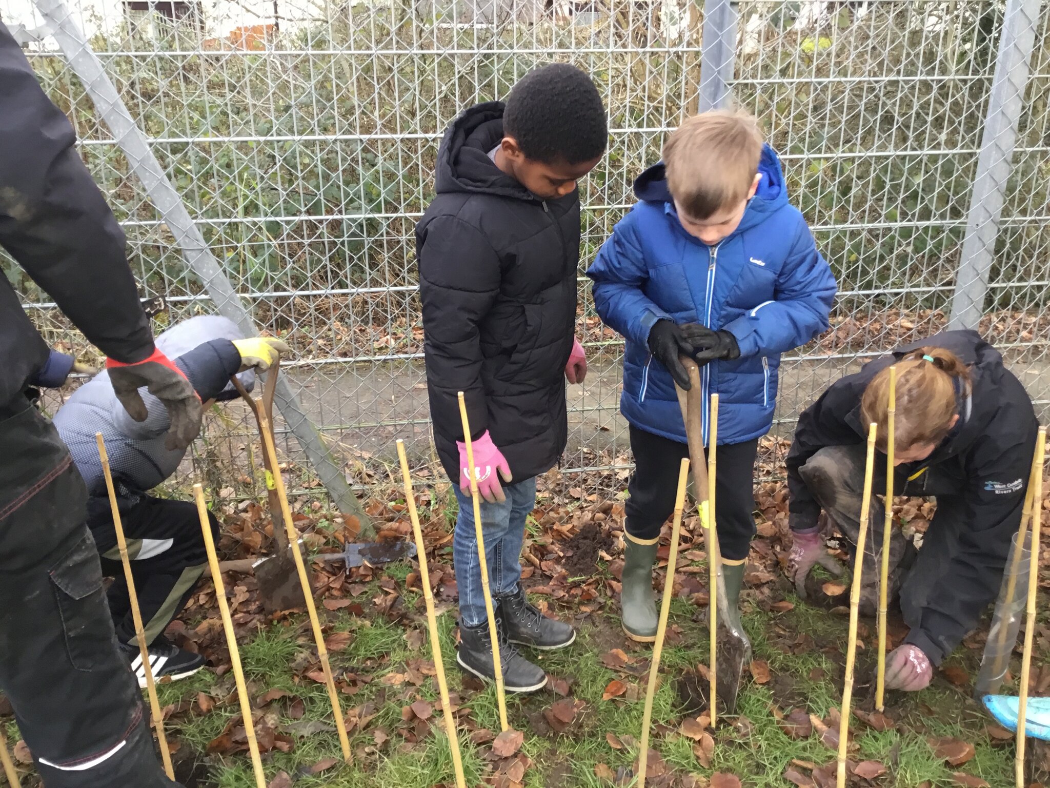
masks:
[[[474,502],[454,484],[460,511],[453,537],[453,560],[460,597],[460,622],[478,626],[486,620],[485,595],[481,587],[478,540],[474,528]],[[518,562],[525,539],[525,518],[536,506],[536,478],[504,484],[502,503],[481,500],[481,525],[488,562],[488,587],[492,596],[507,594],[518,585],[522,567]]]

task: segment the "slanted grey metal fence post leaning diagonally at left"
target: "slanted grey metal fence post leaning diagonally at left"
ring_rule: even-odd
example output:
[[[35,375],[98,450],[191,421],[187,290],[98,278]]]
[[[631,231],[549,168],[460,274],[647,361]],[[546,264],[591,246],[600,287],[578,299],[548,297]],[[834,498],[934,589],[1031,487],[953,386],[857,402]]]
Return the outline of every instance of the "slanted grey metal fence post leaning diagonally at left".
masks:
[[[131,118],[117,87],[106,75],[102,62],[72,19],[65,0],[37,0],[36,4],[59,47],[69,61],[70,67],[84,83],[84,88],[91,97],[99,115],[109,126],[117,144],[127,157],[131,171],[142,182],[150,201],[164,216],[165,223],[175,236],[175,243],[182,249],[187,266],[200,277],[220,314],[236,323],[247,335],[257,333],[254,320],[208,249],[204,235],[193,223],[178,192],[150,150],[146,136]],[[322,442],[317,428],[302,411],[287,376],[278,379],[275,399],[289,430],[306,452],[307,458],[332,497],[332,502],[340,512],[357,517],[362,535],[373,536],[371,518],[351,491],[345,476]]]

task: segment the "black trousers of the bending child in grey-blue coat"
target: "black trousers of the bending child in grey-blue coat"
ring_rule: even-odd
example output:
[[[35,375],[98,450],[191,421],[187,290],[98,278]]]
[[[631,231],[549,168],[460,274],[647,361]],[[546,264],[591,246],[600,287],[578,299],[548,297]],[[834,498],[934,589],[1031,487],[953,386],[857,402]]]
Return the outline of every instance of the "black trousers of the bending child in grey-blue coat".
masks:
[[[186,606],[208,564],[201,520],[196,504],[189,501],[141,495],[132,501],[121,500],[119,505],[146,642],[152,643]],[[211,512],[208,518],[218,541],[218,520]],[[99,547],[102,569],[113,578],[109,613],[117,638],[133,644],[134,621],[108,498],[88,502],[87,525]]]

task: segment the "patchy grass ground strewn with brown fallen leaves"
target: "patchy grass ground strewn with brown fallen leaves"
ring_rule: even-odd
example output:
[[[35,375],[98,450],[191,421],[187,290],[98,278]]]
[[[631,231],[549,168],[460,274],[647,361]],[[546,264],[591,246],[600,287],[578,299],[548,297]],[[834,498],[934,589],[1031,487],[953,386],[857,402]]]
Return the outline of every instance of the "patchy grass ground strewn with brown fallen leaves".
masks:
[[[571,496],[570,496],[571,497]],[[580,496],[582,498],[582,496]],[[422,501],[441,650],[448,670],[467,784],[499,788],[608,788],[636,781],[645,681],[651,648],[620,629],[616,594],[622,518],[617,504],[549,499],[529,524],[523,565],[533,600],[572,618],[571,647],[533,654],[551,681],[543,691],[507,699],[520,747],[499,758],[495,691],[465,678],[455,663],[455,580],[450,573],[447,506]],[[762,500],[759,501],[762,503]],[[772,509],[779,504],[769,500]],[[403,505],[387,504],[392,528]],[[562,506],[562,510],[559,510]],[[837,709],[841,701],[847,620],[803,603],[777,571],[783,553],[777,517],[763,521],[744,592],[746,626],[755,662],[736,714],[704,730],[702,703],[687,691],[708,662],[706,561],[695,523],[687,522],[675,576],[669,640],[653,713],[649,785],[763,788],[834,785]],[[781,523],[782,525],[782,523]],[[403,531],[403,528],[402,528]],[[695,536],[694,536],[695,534]],[[593,554],[593,556],[592,556]],[[580,574],[575,563],[597,566]],[[329,572],[337,572],[335,568]],[[251,577],[228,576],[240,655],[271,788],[430,788],[455,785],[426,636],[423,597],[414,563],[375,571],[324,574],[317,567],[321,615],[350,729],[353,763],[343,764],[332,708],[315,658],[310,627],[299,614],[259,613]],[[1042,605],[1046,617],[1046,605]],[[175,627],[184,645],[207,654],[213,668],[160,687],[177,777],[187,786],[254,788],[244,727],[214,611],[210,584],[196,596],[188,623]],[[1035,688],[1050,688],[1045,666],[1048,630],[1037,633]],[[873,708],[868,680],[875,624],[862,621],[855,706]],[[891,639],[903,628],[894,626]],[[968,639],[920,693],[891,694],[885,721],[854,719],[850,758],[872,762],[852,775],[854,786],[1013,784],[1012,739],[991,726],[970,698],[983,639]],[[704,684],[702,678],[698,682]],[[696,723],[700,716],[701,721]],[[828,732],[823,732],[831,726]],[[7,732],[18,733],[13,724]],[[35,785],[28,767],[23,785]],[[827,782],[827,774],[831,782]],[[737,782],[739,781],[739,782]]]

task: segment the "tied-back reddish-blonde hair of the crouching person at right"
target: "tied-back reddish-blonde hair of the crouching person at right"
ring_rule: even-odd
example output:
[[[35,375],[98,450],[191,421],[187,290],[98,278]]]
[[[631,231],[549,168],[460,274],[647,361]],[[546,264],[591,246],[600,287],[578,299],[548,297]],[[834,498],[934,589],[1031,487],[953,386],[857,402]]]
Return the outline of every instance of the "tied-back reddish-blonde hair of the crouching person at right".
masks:
[[[957,415],[957,381],[969,389],[970,374],[963,360],[944,348],[920,348],[892,365],[897,368],[897,412],[894,445],[907,451],[916,445],[937,445],[951,431]],[[889,402],[889,367],[879,370],[864,389],[861,422],[876,427],[876,445],[886,451],[886,411]]]

